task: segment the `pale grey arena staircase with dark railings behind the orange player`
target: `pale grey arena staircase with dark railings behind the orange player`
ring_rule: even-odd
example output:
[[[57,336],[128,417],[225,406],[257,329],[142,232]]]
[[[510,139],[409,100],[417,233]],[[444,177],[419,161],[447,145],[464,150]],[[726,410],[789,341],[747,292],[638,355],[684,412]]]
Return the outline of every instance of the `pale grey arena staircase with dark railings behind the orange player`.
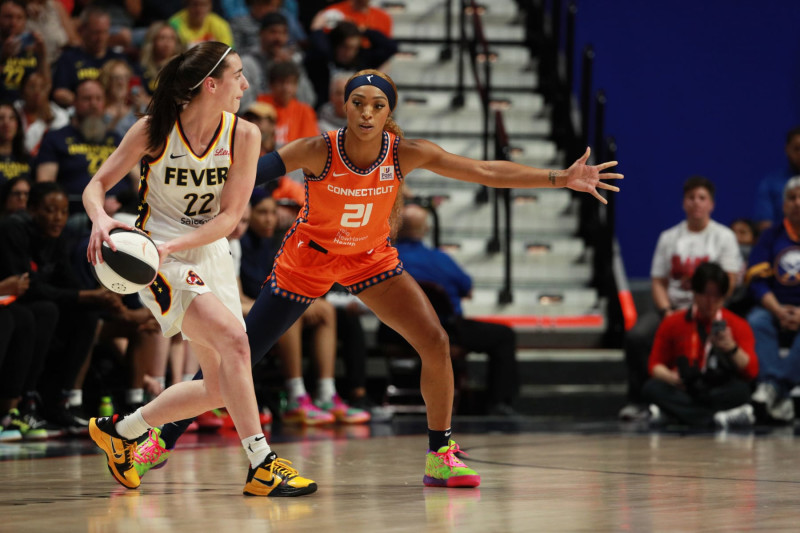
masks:
[[[407,137],[434,140],[446,150],[483,159],[483,113],[475,79],[467,70],[461,107],[452,106],[458,86],[454,54],[442,61],[445,10],[442,0],[375,1],[394,17],[400,52],[389,72],[398,85],[395,116]],[[449,2],[451,28],[458,35],[460,2]],[[492,101],[502,110],[510,158],[522,164],[565,168],[565,154],[552,140],[553,113],[537,91],[537,58],[525,42],[523,15],[513,0],[483,4],[484,34],[491,46]],[[471,18],[471,17],[468,17]],[[469,69],[469,67],[465,67]],[[494,158],[490,153],[489,158]],[[433,198],[440,220],[440,245],[473,277],[464,302],[466,316],[511,325],[518,335],[521,397],[515,407],[527,415],[613,417],[624,403],[620,350],[605,349],[607,302],[592,287],[591,247],[578,236],[578,200],[567,190],[511,191],[513,241],[510,303],[498,303],[504,283],[503,255],[488,253],[492,204],[481,188],[414,171],[406,185]],[[367,329],[377,328],[375,319]],[[372,360],[371,375],[381,362]],[[486,360],[468,356],[468,387],[480,398]],[[477,403],[480,403],[479,401]]]

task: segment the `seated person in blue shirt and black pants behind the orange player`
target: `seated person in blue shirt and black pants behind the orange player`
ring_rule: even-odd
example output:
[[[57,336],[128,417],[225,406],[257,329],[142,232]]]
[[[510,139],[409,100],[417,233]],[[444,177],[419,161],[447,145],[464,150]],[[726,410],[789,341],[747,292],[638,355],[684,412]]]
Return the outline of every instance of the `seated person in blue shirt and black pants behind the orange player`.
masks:
[[[455,317],[451,342],[467,352],[489,356],[488,414],[513,415],[517,396],[517,340],[514,330],[503,324],[472,320],[463,316],[461,299],[472,292],[472,278],[446,253],[425,245],[428,212],[419,205],[403,208],[403,219],[395,247],[406,271],[417,281],[440,285],[447,292]],[[439,317],[440,320],[443,317]]]

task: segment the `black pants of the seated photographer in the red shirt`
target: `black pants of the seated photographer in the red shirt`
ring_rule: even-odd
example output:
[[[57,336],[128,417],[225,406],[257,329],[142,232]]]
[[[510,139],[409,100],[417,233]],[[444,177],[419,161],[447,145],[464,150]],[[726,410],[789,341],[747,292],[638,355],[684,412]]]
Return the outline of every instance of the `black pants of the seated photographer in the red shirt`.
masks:
[[[642,388],[642,396],[679,422],[707,427],[713,424],[717,411],[733,409],[749,402],[750,385],[739,378],[731,378],[725,384],[693,396],[660,379],[650,379]]]

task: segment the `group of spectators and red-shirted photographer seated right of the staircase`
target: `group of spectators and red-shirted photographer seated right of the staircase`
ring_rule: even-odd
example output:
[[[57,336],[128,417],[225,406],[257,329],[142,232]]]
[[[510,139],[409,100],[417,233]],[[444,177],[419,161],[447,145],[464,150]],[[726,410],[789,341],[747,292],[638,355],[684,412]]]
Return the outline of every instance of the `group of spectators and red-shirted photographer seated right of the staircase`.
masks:
[[[800,128],[758,185],[753,218],[711,219],[714,185],[684,185],[686,220],[662,232],[652,310],[627,332],[623,420],[792,424],[800,386]],[[724,307],[723,307],[724,306]]]

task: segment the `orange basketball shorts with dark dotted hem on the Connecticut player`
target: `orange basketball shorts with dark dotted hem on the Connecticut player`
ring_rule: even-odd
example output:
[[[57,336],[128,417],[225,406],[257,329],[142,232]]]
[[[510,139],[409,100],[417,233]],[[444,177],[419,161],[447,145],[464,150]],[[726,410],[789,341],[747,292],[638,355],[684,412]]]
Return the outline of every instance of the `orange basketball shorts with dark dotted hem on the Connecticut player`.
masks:
[[[397,249],[383,243],[368,252],[339,255],[296,233],[283,243],[265,289],[301,303],[325,295],[334,283],[358,294],[403,272]]]

